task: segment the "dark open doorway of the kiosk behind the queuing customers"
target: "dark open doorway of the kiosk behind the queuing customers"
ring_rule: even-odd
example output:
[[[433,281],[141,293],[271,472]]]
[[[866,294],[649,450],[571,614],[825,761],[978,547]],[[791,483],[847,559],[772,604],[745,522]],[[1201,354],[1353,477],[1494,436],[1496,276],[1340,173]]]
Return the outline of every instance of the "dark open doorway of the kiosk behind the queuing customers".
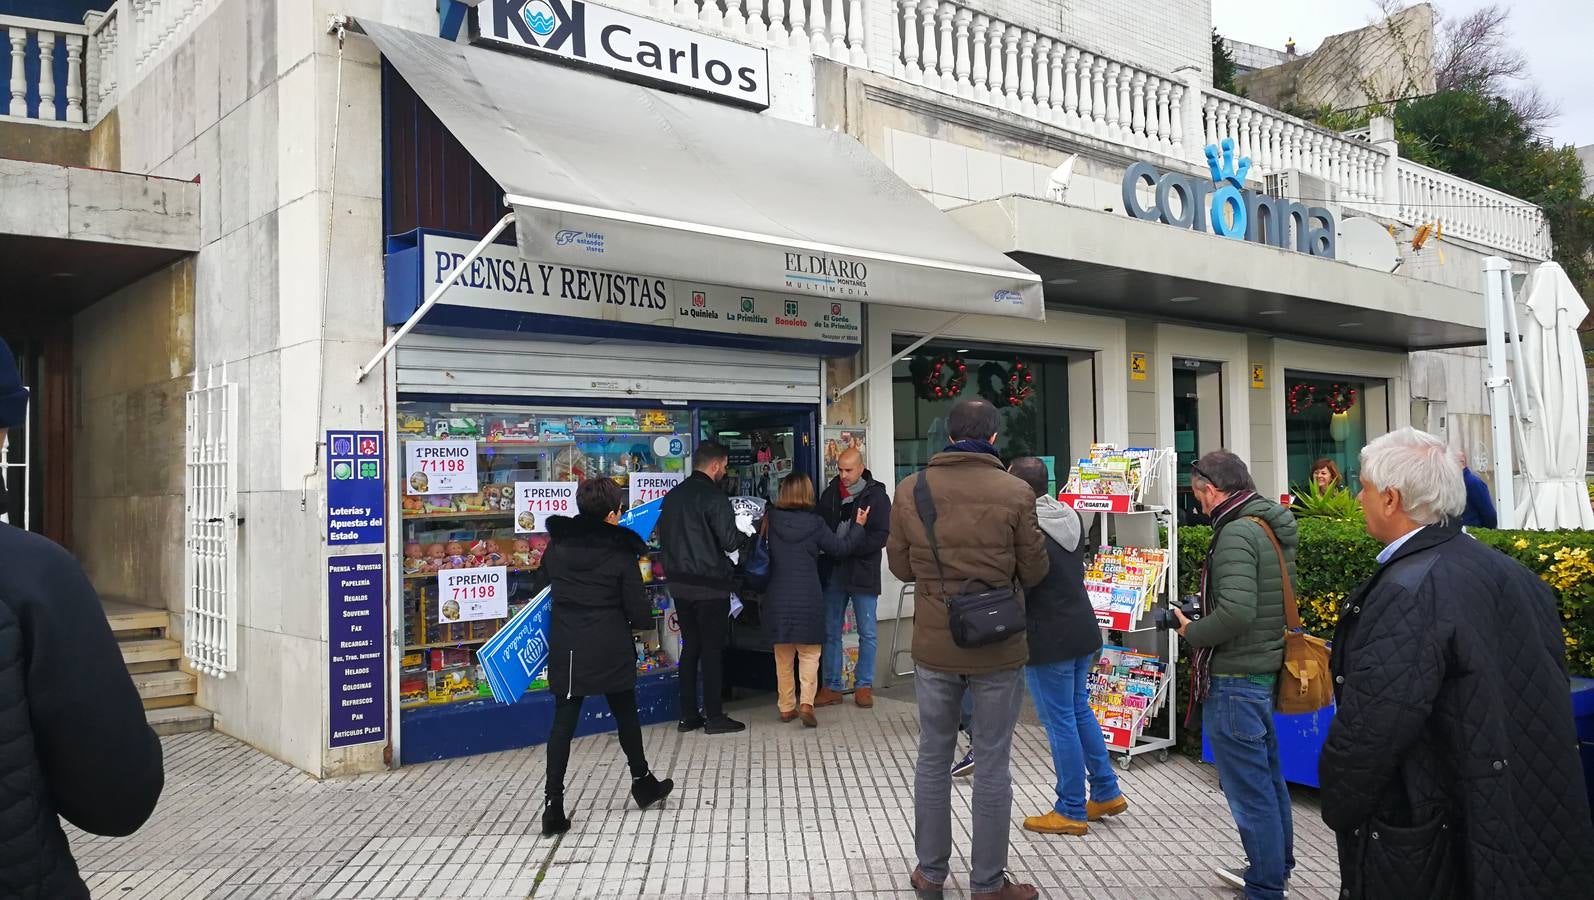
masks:
[[[792,473],[819,484],[816,421],[811,406],[705,406],[697,411],[698,441],[730,448],[730,465],[720,486],[730,497],[759,497],[773,503],[779,483]],[[775,690],[775,647],[764,634],[764,604],[757,594],[741,597],[741,613],[732,620],[725,645],[725,687],[740,691]]]

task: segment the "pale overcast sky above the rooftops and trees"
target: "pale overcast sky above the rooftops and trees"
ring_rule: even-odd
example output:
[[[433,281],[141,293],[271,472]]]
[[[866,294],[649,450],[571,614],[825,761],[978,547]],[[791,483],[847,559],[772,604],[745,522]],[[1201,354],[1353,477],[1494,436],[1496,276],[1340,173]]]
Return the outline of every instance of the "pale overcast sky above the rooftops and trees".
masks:
[[[1441,16],[1471,13],[1487,0],[1438,0]],[[1533,76],[1561,104],[1549,127],[1556,143],[1594,143],[1594,91],[1588,89],[1594,16],[1589,0],[1519,0],[1511,10],[1513,43],[1527,54]],[[1360,29],[1377,18],[1369,0],[1243,0],[1211,6],[1213,25],[1227,38],[1283,48],[1291,37],[1302,51],[1328,35]]]

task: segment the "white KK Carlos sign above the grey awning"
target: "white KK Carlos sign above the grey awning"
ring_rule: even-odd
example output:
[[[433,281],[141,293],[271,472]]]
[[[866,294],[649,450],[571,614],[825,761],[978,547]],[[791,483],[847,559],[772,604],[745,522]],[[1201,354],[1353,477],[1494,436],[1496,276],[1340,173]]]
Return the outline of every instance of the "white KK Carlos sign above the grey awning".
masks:
[[[770,59],[764,49],[585,0],[485,0],[475,11],[473,40],[756,110],[770,105]]]

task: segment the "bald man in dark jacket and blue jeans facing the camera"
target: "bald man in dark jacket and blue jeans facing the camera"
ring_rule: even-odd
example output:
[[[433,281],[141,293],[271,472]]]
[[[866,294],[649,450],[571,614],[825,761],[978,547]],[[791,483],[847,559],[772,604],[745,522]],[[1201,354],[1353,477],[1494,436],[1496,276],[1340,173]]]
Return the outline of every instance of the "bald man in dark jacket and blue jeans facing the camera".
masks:
[[[858,620],[858,669],[853,699],[869,709],[875,706],[875,650],[880,605],[880,551],[891,537],[891,497],[886,486],[875,481],[864,468],[864,456],[846,449],[835,460],[840,473],[830,479],[819,495],[818,513],[837,537],[846,537],[854,527],[864,529],[858,553],[837,559],[819,559],[819,580],[824,583],[824,656],[821,672],[824,683],[815,706],[842,702],[842,626],[846,621],[846,604],[853,604]],[[869,524],[858,526],[858,510],[869,510]]]

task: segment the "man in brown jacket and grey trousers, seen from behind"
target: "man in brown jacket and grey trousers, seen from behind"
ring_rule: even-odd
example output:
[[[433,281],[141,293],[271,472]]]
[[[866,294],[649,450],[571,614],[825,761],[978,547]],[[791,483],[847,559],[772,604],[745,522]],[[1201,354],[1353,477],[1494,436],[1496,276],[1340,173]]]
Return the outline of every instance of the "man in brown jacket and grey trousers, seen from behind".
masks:
[[[1035,519],[1035,492],[1007,475],[996,456],[1001,413],[983,400],[952,408],[952,444],[929,468],[897,484],[886,556],[891,573],[917,581],[913,661],[918,695],[918,769],[913,781],[913,843],[920,897],[939,897],[952,857],[952,755],[964,691],[974,696],[974,847],[969,886],[976,900],[1031,900],[1033,886],[1007,878],[1012,730],[1023,702],[1023,634],[977,648],[952,640],[944,597],[966,581],[987,586],[1036,585],[1046,577],[1046,540]],[[913,486],[929,479],[936,503],[937,572],[929,537],[913,502]],[[944,580],[942,580],[944,575]]]

